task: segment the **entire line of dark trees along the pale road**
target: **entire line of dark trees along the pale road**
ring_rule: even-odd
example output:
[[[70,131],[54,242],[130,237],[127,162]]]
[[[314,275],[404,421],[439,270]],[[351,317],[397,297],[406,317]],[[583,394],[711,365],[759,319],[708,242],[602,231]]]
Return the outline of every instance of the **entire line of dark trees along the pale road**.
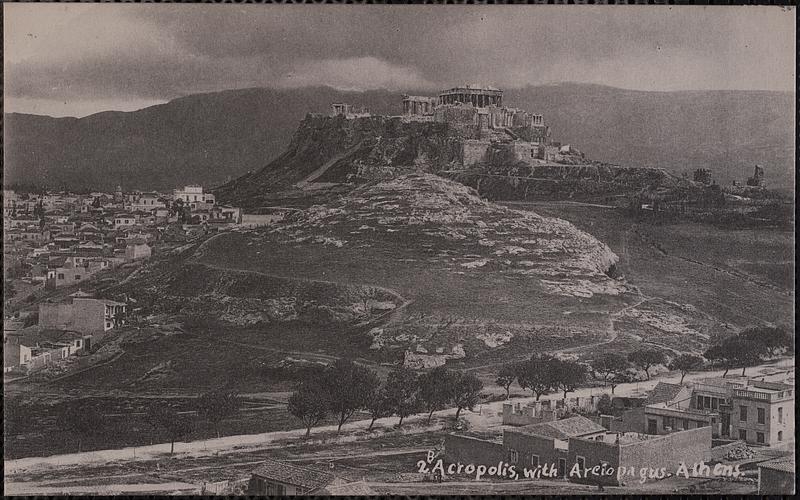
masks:
[[[620,383],[632,382],[638,376],[635,369],[650,378],[650,368],[667,364],[671,370],[680,371],[681,383],[691,371],[701,370],[708,364],[725,369],[723,377],[734,368],[742,368],[784,354],[793,348],[793,335],[777,327],[754,327],[723,339],[709,347],[703,357],[681,354],[668,360],[661,351],[642,349],[627,356],[606,353],[588,365],[558,359],[547,354],[537,354],[521,363],[503,365],[497,373],[497,384],[506,390],[517,381],[523,389],[530,389],[539,398],[549,391],[561,391],[564,398],[585,383],[591,376],[611,387],[611,394]],[[669,361],[669,362],[668,362]],[[240,395],[230,388],[212,390],[194,399],[190,408],[179,412],[165,401],[154,401],[145,409],[145,419],[154,434],[163,431],[170,439],[170,453],[175,442],[195,432],[199,421],[210,425],[217,437],[221,424],[234,417],[242,406]],[[463,409],[472,409],[480,401],[483,384],[473,373],[462,373],[445,367],[417,374],[405,367],[391,371],[385,382],[378,375],[349,360],[337,360],[326,368],[310,370],[303,376],[297,391],[289,398],[289,412],[302,420],[306,436],[325,418],[333,416],[341,431],[356,412],[367,412],[372,421],[396,415],[403,419],[424,411],[430,422],[433,413],[455,406],[456,418]],[[25,405],[11,401],[4,408],[6,432],[29,418]],[[74,402],[65,405],[57,416],[57,424],[76,436],[78,451],[83,441],[102,435],[113,427],[97,409]],[[151,434],[152,436],[152,434]]]

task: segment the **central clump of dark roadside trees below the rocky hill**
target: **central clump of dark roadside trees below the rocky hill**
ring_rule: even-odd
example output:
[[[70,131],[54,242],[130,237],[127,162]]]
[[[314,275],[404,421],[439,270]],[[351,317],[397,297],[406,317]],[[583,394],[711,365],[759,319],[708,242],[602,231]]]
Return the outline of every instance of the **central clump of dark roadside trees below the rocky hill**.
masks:
[[[369,413],[372,430],[379,418],[396,415],[403,419],[425,411],[430,422],[433,412],[455,406],[456,418],[463,409],[480,401],[481,381],[472,373],[444,367],[418,375],[405,367],[392,370],[381,382],[373,370],[350,360],[339,359],[326,368],[307,372],[297,391],[289,398],[289,413],[302,420],[306,436],[325,418],[336,419],[337,432],[356,412]]]

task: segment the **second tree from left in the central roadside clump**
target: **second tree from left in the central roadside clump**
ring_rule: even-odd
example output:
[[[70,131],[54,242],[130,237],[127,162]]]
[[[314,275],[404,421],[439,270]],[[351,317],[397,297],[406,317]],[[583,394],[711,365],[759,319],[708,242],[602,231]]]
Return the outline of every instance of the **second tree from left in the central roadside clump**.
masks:
[[[344,359],[337,359],[326,368],[323,380],[331,412],[338,418],[337,433],[356,411],[366,407],[380,383],[374,371]]]

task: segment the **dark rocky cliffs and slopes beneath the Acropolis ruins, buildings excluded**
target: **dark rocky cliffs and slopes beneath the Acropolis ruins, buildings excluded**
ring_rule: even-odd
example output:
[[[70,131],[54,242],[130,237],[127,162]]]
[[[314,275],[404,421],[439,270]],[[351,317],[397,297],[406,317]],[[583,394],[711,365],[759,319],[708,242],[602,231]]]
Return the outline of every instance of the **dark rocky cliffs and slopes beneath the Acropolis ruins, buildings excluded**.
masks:
[[[271,204],[266,193],[306,195],[310,185],[352,188],[410,173],[442,172],[496,200],[613,198],[691,184],[663,169],[608,165],[579,156],[564,157],[560,165],[530,165],[508,155],[486,155],[464,169],[464,144],[463,131],[449,123],[308,115],[280,157],[215,192],[223,202],[257,207]],[[568,164],[571,160],[579,164]]]

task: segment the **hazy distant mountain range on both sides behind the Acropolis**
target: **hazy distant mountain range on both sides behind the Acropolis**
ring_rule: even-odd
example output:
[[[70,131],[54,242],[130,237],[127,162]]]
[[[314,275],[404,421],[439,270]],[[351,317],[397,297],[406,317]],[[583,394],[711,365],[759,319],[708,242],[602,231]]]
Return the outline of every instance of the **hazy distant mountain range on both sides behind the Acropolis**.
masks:
[[[306,113],[327,112],[337,101],[374,113],[401,108],[398,93],[313,87],[197,94],[85,118],[5,114],[4,184],[216,186],[264,167],[283,152]],[[788,92],[641,92],[567,83],[512,89],[504,102],[543,114],[554,140],[592,159],[675,172],[705,167],[724,184],[744,180],[758,163],[769,185],[794,185]]]

